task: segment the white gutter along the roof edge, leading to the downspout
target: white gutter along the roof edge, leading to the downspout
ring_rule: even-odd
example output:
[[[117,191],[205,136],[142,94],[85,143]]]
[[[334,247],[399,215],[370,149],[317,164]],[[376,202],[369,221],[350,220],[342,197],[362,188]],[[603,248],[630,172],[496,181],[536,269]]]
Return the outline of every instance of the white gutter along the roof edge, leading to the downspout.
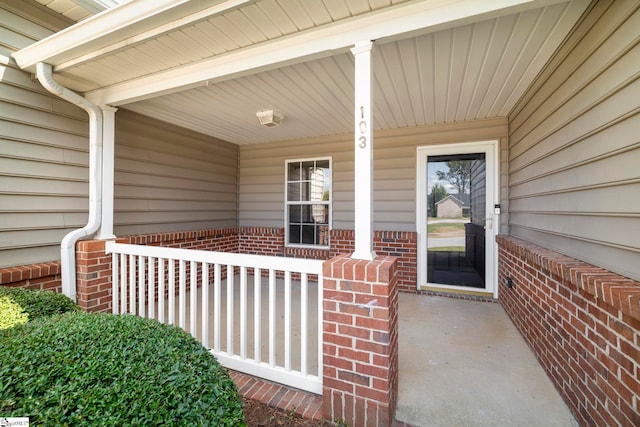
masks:
[[[31,72],[35,71],[38,62],[55,66],[57,62],[86,54],[144,31],[151,25],[151,18],[188,2],[189,0],[137,0],[125,3],[65,28],[12,56],[20,68]],[[166,19],[171,17],[168,15]]]

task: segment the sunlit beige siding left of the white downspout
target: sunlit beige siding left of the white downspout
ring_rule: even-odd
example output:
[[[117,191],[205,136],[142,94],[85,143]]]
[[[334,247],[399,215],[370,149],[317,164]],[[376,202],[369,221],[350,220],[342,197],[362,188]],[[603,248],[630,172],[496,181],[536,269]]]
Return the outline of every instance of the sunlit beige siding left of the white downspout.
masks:
[[[10,55],[70,21],[31,2],[0,1],[0,267],[60,258],[87,221],[88,122]]]

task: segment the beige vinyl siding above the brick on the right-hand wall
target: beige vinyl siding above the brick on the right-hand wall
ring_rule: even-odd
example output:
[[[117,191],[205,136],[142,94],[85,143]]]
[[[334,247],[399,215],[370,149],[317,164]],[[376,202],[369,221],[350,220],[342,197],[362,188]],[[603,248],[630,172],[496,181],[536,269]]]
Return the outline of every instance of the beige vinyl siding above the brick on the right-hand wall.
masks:
[[[509,117],[511,234],[635,279],[639,8],[592,3]]]

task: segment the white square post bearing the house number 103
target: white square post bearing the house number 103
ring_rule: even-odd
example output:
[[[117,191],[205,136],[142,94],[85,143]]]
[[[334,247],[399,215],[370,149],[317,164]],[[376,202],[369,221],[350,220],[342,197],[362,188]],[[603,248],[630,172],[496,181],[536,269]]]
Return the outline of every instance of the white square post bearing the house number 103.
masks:
[[[351,258],[372,260],[373,252],[373,113],[371,49],[359,42],[355,58],[355,252]]]

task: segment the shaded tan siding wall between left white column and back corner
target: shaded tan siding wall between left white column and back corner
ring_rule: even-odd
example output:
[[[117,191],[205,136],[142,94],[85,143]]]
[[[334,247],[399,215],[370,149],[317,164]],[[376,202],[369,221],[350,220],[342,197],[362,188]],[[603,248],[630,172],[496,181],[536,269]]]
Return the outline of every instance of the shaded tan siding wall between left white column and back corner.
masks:
[[[237,224],[237,146],[120,109],[116,235]]]

